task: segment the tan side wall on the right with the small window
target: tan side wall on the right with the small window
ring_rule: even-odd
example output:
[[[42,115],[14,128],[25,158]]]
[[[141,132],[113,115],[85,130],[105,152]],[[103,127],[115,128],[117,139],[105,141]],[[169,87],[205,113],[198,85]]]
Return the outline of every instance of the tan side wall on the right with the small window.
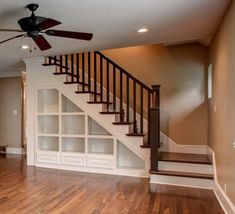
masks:
[[[209,145],[215,151],[222,188],[235,204],[235,2],[233,1],[210,49],[213,97],[209,108]],[[216,106],[216,112],[214,107]]]

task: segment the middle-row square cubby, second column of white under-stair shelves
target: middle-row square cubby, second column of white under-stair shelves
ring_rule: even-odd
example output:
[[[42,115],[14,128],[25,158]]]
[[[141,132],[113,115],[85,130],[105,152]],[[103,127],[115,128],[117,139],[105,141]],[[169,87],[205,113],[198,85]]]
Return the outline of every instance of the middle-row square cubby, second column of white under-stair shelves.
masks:
[[[63,115],[62,116],[62,134],[81,135],[85,134],[85,116],[84,115]]]

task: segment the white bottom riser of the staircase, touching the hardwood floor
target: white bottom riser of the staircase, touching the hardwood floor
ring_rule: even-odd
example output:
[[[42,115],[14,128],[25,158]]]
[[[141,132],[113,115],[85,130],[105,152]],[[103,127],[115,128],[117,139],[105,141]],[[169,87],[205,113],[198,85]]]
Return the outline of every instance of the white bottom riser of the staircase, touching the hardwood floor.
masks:
[[[201,178],[187,178],[187,177],[179,177],[179,176],[167,176],[167,175],[151,175],[150,183],[195,187],[195,188],[202,188],[202,189],[214,189],[215,187],[214,180],[201,179]]]

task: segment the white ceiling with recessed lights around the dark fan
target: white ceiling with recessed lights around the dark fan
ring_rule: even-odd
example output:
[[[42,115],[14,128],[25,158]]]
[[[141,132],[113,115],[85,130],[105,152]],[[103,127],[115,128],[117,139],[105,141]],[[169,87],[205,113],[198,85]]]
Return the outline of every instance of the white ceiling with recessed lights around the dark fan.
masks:
[[[21,59],[83,50],[102,50],[154,43],[184,43],[210,38],[230,0],[0,0],[0,28],[19,28],[18,19],[29,16],[25,8],[38,3],[36,15],[62,22],[55,29],[91,32],[92,41],[46,36],[52,49],[33,53],[21,50],[29,38],[0,45],[0,71],[24,69]],[[140,27],[147,34],[137,34]],[[16,33],[0,32],[0,40]],[[33,42],[32,42],[33,44]],[[34,45],[34,44],[33,44]]]

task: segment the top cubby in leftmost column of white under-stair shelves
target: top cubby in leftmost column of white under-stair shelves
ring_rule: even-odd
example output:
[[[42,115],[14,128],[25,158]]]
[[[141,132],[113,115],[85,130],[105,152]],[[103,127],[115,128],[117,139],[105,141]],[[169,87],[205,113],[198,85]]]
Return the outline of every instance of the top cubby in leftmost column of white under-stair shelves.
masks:
[[[57,89],[39,89],[38,113],[59,112],[59,92]]]

